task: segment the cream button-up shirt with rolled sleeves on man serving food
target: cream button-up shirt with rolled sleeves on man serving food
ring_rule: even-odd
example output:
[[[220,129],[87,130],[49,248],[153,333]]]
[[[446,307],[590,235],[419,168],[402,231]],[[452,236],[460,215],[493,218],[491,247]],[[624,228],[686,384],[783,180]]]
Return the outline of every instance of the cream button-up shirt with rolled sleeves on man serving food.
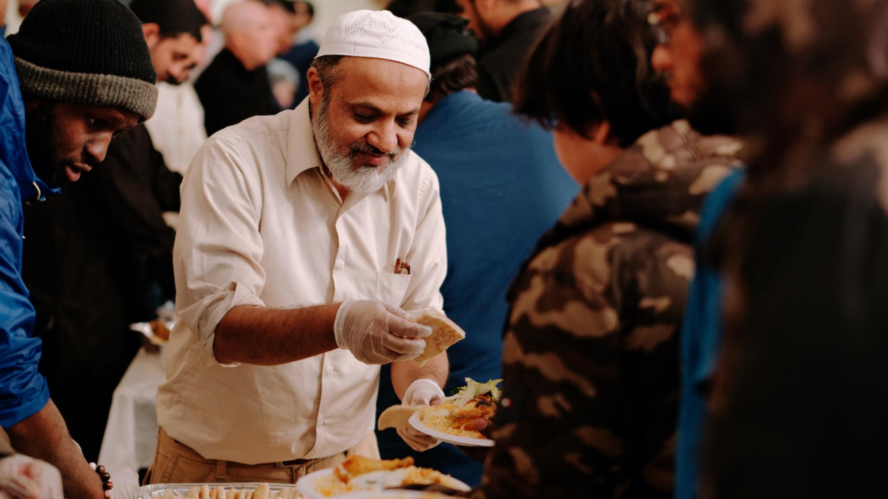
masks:
[[[442,308],[447,273],[438,178],[416,153],[397,177],[345,203],[321,171],[307,99],[211,136],[182,183],[174,250],[178,321],[157,418],[208,459],[332,456],[372,430],[379,366],[337,349],[265,367],[212,355],[231,308],[376,299]],[[400,259],[411,273],[396,274]]]

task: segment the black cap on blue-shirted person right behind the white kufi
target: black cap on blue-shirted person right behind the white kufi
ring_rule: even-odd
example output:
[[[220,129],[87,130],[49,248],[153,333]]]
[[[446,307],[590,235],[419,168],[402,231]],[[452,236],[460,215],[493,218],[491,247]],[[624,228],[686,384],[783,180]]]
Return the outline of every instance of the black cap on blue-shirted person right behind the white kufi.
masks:
[[[416,25],[429,44],[432,66],[451,58],[478,53],[478,39],[466,30],[469,21],[459,16],[420,12],[407,18]]]

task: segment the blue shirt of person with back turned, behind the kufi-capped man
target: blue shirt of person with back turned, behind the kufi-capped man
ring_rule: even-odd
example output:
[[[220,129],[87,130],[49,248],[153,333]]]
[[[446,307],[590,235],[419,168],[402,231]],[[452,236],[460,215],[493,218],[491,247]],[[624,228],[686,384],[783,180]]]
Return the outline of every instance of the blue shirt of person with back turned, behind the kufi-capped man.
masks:
[[[442,98],[419,123],[415,139],[414,151],[440,181],[448,251],[444,311],[466,333],[448,350],[447,393],[466,377],[501,377],[511,279],[579,186],[561,168],[550,133],[521,121],[510,105],[470,91]],[[397,403],[385,367],[377,415]],[[452,445],[417,453],[394,430],[377,437],[385,458],[414,456],[418,465],[480,483],[482,464]]]

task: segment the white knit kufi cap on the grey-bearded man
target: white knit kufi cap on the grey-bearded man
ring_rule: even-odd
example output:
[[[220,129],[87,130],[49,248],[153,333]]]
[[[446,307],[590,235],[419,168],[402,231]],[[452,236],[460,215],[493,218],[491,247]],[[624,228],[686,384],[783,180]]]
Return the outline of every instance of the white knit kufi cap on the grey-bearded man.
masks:
[[[415,24],[388,11],[354,11],[339,16],[324,35],[321,56],[384,58],[416,67],[429,78],[431,56]]]

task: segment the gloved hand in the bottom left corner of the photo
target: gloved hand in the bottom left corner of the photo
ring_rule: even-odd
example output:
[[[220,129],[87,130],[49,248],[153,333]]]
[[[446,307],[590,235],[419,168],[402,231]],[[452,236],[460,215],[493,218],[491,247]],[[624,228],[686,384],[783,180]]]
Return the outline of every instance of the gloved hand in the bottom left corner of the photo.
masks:
[[[0,498],[62,497],[61,474],[52,464],[21,454],[0,459]]]

